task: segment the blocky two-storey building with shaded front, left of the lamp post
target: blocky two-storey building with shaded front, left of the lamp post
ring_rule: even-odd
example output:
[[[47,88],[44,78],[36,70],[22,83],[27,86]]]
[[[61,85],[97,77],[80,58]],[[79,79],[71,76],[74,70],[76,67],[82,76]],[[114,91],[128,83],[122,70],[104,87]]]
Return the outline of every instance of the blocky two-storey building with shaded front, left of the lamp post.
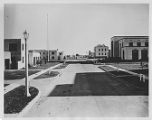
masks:
[[[25,67],[25,40],[4,39],[4,58],[6,69]]]

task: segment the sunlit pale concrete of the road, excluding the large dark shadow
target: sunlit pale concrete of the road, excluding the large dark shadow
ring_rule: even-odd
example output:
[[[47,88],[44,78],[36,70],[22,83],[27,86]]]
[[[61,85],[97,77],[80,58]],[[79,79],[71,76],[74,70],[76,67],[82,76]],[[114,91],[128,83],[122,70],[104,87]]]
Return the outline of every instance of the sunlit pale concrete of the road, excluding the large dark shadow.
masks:
[[[43,90],[47,92],[43,91],[44,96],[24,117],[148,116],[148,96],[48,96],[57,85],[74,84],[76,73],[104,72],[97,67],[91,64],[70,64],[55,79],[33,80],[32,85],[45,84]]]

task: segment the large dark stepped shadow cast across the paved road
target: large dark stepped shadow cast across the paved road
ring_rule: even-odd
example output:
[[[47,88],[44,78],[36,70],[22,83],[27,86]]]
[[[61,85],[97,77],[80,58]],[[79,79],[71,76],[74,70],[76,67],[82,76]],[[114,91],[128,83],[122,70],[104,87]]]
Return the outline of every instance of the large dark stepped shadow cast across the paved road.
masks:
[[[49,97],[148,95],[148,83],[140,83],[137,76],[130,78],[116,78],[107,72],[77,73],[74,84],[57,85]]]

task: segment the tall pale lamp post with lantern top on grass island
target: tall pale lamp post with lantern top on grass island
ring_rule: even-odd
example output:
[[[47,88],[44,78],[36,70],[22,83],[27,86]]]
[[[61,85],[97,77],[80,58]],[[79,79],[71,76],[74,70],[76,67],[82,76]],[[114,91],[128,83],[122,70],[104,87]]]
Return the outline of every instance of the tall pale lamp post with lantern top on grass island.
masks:
[[[29,33],[25,30],[23,32],[24,39],[25,39],[25,94],[27,97],[30,97],[31,94],[29,93],[29,79],[28,79],[28,48],[27,48],[27,39],[29,37]]]

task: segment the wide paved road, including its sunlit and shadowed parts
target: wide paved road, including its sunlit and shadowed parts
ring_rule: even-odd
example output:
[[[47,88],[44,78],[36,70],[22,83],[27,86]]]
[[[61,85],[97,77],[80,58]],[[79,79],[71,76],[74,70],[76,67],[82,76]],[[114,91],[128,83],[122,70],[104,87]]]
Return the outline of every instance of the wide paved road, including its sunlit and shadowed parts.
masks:
[[[91,64],[69,65],[47,87],[49,94],[25,117],[148,116],[148,96],[142,88],[112,78]]]

